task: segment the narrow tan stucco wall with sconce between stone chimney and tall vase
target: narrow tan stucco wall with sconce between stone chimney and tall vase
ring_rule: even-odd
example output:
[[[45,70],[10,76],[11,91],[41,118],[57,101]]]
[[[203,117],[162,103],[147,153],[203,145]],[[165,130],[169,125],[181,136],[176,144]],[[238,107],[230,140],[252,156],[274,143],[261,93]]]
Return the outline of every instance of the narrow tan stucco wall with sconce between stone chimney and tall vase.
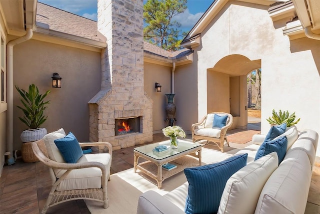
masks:
[[[164,121],[165,104],[167,102],[165,94],[171,93],[171,67],[144,63],[144,91],[152,99],[152,125],[153,133],[162,131],[167,126]],[[160,83],[161,92],[156,92],[155,83]]]

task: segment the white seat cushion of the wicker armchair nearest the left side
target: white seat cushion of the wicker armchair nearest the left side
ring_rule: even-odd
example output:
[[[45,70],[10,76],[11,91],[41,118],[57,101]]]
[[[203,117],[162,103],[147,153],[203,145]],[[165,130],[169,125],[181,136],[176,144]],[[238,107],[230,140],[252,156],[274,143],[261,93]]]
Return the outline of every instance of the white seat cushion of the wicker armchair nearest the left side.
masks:
[[[108,174],[111,166],[111,156],[109,153],[84,154],[80,157],[77,163],[85,163],[89,161],[102,163]],[[101,176],[102,172],[97,167],[73,169],[66,178],[61,181],[56,190],[62,191],[71,189],[101,188]]]

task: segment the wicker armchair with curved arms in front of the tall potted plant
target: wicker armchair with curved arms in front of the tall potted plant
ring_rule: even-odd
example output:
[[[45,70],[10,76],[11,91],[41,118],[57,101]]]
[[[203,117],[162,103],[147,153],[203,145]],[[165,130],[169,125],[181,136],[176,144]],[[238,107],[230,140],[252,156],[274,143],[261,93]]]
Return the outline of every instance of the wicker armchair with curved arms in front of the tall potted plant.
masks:
[[[32,150],[35,156],[49,167],[50,177],[52,180],[52,187],[41,213],[45,213],[51,206],[76,199],[100,201],[103,203],[103,207],[107,208],[108,198],[106,186],[110,175],[112,157],[112,146],[110,143],[79,143],[81,147],[106,146],[108,148],[108,153],[84,154],[77,163],[61,163],[51,160],[45,155],[46,152],[43,151],[45,148],[40,147],[40,144],[43,144],[43,139],[32,142]],[[85,184],[85,182],[83,182],[83,173],[86,173],[86,168],[94,169],[96,173],[96,167],[101,171],[99,184],[96,184],[96,182],[94,182],[95,184],[91,184],[90,182]],[[75,170],[82,171],[80,172]],[[90,178],[90,176],[92,176],[91,172],[87,171],[88,179],[92,179]],[[82,174],[82,177],[77,179],[76,176],[79,176],[79,174]],[[67,179],[72,181],[70,182],[70,180]],[[82,184],[83,187],[81,187]],[[75,185],[76,189],[70,189],[70,186],[72,185]]]

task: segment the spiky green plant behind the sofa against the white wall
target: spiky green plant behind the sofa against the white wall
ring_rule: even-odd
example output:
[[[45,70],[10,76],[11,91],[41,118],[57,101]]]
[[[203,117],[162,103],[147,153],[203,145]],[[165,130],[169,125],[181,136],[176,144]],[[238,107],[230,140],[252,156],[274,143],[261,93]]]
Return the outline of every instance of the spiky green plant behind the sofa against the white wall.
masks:
[[[279,112],[275,112],[274,109],[272,110],[272,117],[269,117],[268,119],[266,119],[269,124],[272,125],[281,125],[283,123],[286,123],[286,127],[290,127],[293,126],[295,124],[297,124],[300,121],[300,118],[295,120],[295,112],[293,112],[292,114],[289,114],[288,111],[281,111],[279,110]]]

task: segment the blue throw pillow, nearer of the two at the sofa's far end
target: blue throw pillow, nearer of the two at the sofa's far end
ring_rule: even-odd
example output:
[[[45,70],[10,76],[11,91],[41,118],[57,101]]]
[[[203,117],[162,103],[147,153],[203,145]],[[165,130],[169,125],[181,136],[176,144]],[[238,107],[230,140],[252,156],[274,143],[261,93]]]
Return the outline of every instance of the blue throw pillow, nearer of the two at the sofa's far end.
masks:
[[[285,156],[287,144],[288,140],[286,136],[280,137],[275,140],[263,142],[256,151],[254,160],[257,160],[260,157],[263,157],[264,155],[270,154],[271,152],[275,151],[278,155],[280,164]]]

